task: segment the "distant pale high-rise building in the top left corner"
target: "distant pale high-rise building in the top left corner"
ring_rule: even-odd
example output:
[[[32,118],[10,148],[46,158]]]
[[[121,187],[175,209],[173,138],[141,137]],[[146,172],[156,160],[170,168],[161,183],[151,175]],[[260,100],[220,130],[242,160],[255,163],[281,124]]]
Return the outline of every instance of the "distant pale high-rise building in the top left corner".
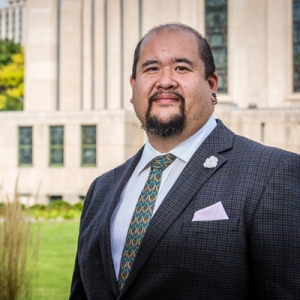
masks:
[[[0,8],[0,40],[8,38],[25,45],[26,1],[9,0]]]

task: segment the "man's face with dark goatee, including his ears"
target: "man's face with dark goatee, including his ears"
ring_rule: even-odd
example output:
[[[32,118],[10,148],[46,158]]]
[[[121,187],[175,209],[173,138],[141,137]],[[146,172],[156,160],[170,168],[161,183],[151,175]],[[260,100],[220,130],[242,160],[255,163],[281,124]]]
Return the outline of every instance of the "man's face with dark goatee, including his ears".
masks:
[[[188,138],[212,115],[217,82],[216,73],[205,79],[194,34],[166,28],[141,45],[131,102],[148,134]]]

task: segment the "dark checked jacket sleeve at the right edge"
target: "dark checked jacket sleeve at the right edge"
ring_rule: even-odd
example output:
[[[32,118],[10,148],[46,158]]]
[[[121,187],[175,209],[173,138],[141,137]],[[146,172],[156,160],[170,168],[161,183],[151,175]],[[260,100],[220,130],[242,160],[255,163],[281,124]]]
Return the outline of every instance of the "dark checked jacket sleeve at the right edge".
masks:
[[[285,155],[267,182],[250,247],[253,299],[300,299],[299,155]]]

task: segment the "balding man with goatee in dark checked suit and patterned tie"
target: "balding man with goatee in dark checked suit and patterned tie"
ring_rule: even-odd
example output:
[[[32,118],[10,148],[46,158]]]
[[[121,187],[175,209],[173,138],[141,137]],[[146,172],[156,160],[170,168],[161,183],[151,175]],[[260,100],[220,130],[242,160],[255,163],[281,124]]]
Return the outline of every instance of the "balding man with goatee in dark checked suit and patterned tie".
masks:
[[[300,156],[216,122],[190,27],[147,33],[130,84],[147,142],[87,193],[70,299],[300,299]]]

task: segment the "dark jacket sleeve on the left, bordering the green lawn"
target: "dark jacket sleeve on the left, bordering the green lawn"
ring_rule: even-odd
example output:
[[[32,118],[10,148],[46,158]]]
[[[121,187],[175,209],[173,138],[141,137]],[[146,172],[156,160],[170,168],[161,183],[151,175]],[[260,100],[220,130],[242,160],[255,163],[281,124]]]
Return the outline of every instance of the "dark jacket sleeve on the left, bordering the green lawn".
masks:
[[[81,214],[81,220],[80,220],[80,230],[79,230],[79,237],[81,234],[81,230],[82,230],[82,223],[84,220],[84,216],[85,213],[88,209],[88,206],[90,204],[91,201],[91,197],[93,194],[93,190],[94,187],[96,185],[96,181],[94,180],[94,182],[91,184],[87,195],[85,197],[84,200],[84,206],[83,206],[83,210],[82,210],[82,214]],[[79,238],[78,238],[79,241]],[[73,277],[72,277],[72,283],[71,283],[71,292],[70,292],[70,300],[85,300],[88,299],[86,296],[86,292],[84,290],[84,286],[83,286],[83,282],[82,282],[82,278],[81,278],[81,272],[80,272],[80,266],[79,266],[79,262],[78,262],[78,256],[79,256],[79,243],[78,243],[78,248],[77,248],[77,253],[76,253],[76,259],[75,259],[75,266],[74,266],[74,271],[73,271]]]

